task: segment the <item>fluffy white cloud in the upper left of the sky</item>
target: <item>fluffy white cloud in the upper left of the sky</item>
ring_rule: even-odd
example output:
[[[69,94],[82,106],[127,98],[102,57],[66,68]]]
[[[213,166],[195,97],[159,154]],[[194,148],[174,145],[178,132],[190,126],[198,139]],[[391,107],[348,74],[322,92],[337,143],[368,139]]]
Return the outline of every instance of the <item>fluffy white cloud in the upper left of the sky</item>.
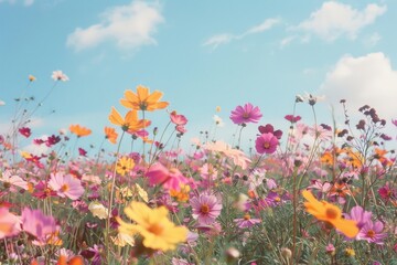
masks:
[[[66,45],[79,51],[106,41],[114,41],[121,49],[155,44],[152,34],[163,21],[158,4],[132,1],[105,11],[99,23],[77,28],[68,35]]]

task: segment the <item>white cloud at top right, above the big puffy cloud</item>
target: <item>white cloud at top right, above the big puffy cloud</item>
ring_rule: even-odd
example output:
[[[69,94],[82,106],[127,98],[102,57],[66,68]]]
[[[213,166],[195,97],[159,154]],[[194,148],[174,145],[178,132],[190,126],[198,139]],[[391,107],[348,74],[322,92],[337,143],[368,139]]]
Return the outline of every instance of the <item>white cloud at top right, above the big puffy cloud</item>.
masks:
[[[376,18],[384,14],[386,10],[386,6],[375,3],[366,6],[364,10],[356,10],[348,4],[329,1],[312,12],[310,18],[296,29],[330,42],[343,35],[354,40],[360,30],[374,23]]]

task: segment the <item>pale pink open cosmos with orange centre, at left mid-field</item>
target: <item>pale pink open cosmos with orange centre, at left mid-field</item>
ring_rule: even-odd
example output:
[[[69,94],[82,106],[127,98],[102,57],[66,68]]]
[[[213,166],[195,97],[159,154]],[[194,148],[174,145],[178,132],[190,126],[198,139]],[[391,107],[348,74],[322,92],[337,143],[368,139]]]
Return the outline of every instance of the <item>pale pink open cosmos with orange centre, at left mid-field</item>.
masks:
[[[79,179],[62,172],[52,173],[49,186],[52,190],[56,191],[58,197],[67,197],[71,200],[77,200],[84,193],[84,188]]]

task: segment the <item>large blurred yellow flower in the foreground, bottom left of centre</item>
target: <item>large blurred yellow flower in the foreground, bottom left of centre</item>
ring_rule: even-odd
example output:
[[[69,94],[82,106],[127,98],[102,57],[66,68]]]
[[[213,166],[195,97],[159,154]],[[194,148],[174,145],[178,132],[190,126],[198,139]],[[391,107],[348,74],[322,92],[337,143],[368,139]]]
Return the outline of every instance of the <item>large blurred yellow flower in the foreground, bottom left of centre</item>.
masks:
[[[146,247],[159,251],[175,250],[176,244],[185,242],[187,229],[176,226],[168,219],[169,211],[165,206],[151,209],[143,202],[132,201],[125,208],[125,213],[137,224],[117,219],[119,231],[125,234],[140,234]]]

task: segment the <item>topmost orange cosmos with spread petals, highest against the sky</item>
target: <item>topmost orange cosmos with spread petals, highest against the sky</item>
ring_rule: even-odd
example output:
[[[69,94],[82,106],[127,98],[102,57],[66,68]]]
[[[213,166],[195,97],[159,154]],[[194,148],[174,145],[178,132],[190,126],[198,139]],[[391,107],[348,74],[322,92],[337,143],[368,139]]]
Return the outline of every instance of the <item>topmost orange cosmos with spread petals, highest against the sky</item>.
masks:
[[[161,92],[154,91],[150,94],[149,88],[142,85],[137,87],[137,94],[132,91],[126,91],[125,97],[120,99],[121,105],[136,110],[153,112],[165,108],[169,105],[168,102],[159,102],[162,97]]]

